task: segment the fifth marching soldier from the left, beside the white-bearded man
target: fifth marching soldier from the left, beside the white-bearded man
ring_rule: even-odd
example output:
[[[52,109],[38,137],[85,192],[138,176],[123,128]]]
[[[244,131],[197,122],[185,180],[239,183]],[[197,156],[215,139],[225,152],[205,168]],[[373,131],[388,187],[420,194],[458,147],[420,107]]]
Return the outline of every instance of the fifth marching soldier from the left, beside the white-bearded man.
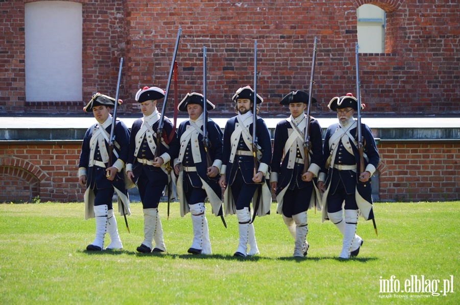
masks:
[[[303,173],[307,123],[304,110],[308,99],[308,93],[298,90],[281,100],[281,105],[289,106],[291,116],[277,124],[271,159],[270,185],[277,195],[277,212],[283,215],[284,223],[294,238],[294,257],[307,255],[307,210],[319,206],[320,202],[314,182],[323,162],[323,140],[321,127],[313,117],[309,122],[311,150],[307,158],[310,166]],[[311,103],[316,103],[316,99],[312,98]]]

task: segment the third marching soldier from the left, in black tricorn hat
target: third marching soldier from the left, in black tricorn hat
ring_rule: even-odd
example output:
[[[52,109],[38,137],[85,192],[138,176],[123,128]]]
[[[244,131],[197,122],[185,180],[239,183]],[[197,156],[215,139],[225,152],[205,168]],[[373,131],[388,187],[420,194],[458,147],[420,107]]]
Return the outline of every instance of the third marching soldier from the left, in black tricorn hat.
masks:
[[[222,131],[212,120],[203,129],[203,95],[188,93],[178,105],[179,111],[187,111],[189,120],[180,123],[177,134],[180,139],[179,157],[174,161],[174,172],[178,175],[177,194],[180,200],[180,216],[192,215],[193,242],[188,252],[211,254],[208,220],[205,216],[204,200],[209,198],[212,211],[222,215],[222,189],[219,171],[222,165]],[[206,100],[206,110],[215,106]],[[203,130],[207,135],[203,134]],[[210,147],[204,147],[203,137],[208,136]],[[212,164],[206,162],[206,149]]]

